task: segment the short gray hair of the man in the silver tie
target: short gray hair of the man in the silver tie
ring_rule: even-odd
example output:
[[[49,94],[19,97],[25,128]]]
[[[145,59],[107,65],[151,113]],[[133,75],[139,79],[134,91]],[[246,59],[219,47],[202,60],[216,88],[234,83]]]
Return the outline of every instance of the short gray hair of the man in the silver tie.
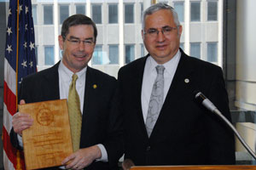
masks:
[[[173,18],[174,18],[174,22],[176,24],[176,26],[180,26],[179,20],[177,18],[177,12],[175,11],[174,8],[172,8],[170,5],[167,5],[166,3],[156,3],[150,7],[148,7],[144,12],[143,12],[143,30],[145,28],[145,18],[148,14],[153,14],[156,11],[159,11],[160,9],[168,9],[172,12]]]

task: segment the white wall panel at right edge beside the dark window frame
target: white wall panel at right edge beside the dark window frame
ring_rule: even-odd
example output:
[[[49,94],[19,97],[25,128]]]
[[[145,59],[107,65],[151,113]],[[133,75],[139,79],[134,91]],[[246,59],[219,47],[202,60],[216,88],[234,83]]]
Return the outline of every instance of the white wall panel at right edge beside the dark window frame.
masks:
[[[236,106],[256,110],[256,1],[237,0]]]

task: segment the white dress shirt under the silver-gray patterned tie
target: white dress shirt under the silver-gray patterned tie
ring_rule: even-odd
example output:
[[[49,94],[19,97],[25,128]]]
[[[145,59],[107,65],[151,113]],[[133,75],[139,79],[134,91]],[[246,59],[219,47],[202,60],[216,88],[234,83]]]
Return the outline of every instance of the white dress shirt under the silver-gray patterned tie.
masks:
[[[165,71],[164,71],[164,100],[166,99],[166,95],[169,91],[169,88],[172,83],[172,79],[177,69],[177,64],[179,62],[181,53],[178,50],[177,54],[174,57],[164,64]],[[142,88],[142,109],[143,109],[143,118],[144,122],[146,122],[147,115],[148,115],[148,105],[149,99],[151,96],[152,88],[154,85],[154,80],[157,76],[157,72],[155,66],[159,65],[151,56],[148,57],[146,60],[144,73],[143,73],[143,88]]]

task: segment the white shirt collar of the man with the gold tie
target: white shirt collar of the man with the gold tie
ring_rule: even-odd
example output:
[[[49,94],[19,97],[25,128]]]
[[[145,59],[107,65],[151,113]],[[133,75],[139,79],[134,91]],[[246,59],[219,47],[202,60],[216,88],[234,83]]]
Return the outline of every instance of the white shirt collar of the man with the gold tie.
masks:
[[[86,71],[87,71],[87,66],[85,66],[84,69],[82,69],[81,71],[76,72],[76,75],[78,75],[79,78],[83,77],[85,75]],[[60,65],[59,65],[59,73],[60,73],[62,80],[64,80],[64,82],[68,82],[68,81],[72,80],[73,71],[70,71],[67,68],[67,66],[63,64],[62,59],[61,59]]]

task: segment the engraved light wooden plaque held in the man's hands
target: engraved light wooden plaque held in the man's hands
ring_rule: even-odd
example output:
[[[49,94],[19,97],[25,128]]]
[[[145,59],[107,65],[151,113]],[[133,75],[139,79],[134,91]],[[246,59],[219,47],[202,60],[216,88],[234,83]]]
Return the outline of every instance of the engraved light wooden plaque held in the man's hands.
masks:
[[[61,166],[73,153],[67,99],[19,105],[19,111],[34,120],[22,132],[26,169]]]

